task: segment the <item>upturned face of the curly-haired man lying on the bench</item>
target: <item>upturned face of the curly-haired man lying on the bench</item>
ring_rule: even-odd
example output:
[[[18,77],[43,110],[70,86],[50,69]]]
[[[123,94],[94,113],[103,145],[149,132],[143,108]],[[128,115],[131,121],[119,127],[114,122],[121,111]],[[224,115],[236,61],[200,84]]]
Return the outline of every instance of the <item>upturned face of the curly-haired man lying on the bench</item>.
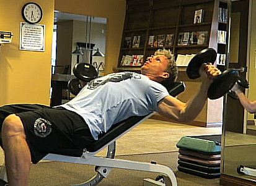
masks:
[[[141,74],[162,77],[166,73],[168,63],[169,60],[164,55],[148,57],[148,60],[141,67]]]

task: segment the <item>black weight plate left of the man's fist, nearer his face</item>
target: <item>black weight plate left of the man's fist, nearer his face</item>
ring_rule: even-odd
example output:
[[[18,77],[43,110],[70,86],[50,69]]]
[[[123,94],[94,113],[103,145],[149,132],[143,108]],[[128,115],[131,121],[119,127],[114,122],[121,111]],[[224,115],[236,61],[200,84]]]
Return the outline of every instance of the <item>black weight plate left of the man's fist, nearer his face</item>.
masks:
[[[213,48],[206,48],[200,51],[188,63],[188,67],[186,70],[188,77],[191,79],[200,77],[198,71],[201,67],[201,64],[209,62],[211,62],[211,64],[214,64],[216,57],[217,53]]]

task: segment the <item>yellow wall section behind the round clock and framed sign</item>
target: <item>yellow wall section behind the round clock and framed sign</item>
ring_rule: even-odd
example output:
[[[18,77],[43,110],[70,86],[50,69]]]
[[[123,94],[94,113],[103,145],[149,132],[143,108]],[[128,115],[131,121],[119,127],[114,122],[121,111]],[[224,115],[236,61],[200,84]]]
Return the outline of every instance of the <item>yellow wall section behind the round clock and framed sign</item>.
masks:
[[[22,7],[31,1],[1,0],[0,31],[12,32],[12,43],[1,45],[0,105],[50,102],[51,42],[54,0],[34,0],[43,9],[40,24],[46,25],[45,52],[19,50]]]

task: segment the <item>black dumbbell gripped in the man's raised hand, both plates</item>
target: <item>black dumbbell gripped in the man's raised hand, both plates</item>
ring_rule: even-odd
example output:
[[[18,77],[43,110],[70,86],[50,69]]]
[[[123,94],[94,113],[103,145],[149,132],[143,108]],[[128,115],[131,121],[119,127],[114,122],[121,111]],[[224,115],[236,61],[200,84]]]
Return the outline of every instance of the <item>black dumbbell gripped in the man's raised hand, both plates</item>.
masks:
[[[196,54],[188,63],[187,75],[191,79],[199,78],[199,69],[201,64],[214,64],[217,53],[213,48],[207,48]],[[208,98],[218,99],[225,95],[238,80],[239,70],[241,69],[227,69],[222,74],[216,76],[208,88]]]

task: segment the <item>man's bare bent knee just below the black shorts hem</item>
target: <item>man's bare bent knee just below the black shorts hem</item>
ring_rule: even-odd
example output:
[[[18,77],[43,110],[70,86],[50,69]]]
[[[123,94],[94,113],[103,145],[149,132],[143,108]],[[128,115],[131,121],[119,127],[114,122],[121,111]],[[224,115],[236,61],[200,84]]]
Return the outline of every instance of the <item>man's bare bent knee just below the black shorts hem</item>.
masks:
[[[25,135],[24,127],[19,116],[11,114],[4,119],[2,124],[2,137],[12,135]]]

